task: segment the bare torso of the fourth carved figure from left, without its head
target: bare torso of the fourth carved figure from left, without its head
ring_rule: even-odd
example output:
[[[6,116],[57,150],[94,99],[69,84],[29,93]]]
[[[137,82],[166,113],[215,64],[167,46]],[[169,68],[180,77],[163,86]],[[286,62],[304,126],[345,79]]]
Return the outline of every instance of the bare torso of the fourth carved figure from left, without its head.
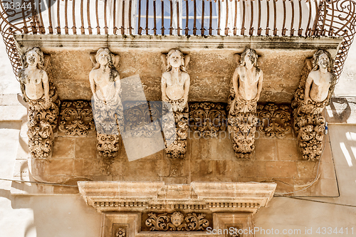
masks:
[[[261,70],[253,67],[252,71],[250,71],[244,66],[239,66],[236,71],[239,75],[239,93],[241,97],[245,100],[256,98]]]

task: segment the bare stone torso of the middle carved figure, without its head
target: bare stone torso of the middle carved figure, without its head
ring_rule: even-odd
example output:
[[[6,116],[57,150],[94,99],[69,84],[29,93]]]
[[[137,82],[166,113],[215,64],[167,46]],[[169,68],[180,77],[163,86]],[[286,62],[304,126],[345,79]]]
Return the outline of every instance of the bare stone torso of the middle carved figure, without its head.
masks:
[[[172,70],[163,73],[162,80],[166,82],[166,94],[171,100],[179,100],[184,95],[184,83],[189,80],[188,73],[184,73],[181,70],[173,72]]]

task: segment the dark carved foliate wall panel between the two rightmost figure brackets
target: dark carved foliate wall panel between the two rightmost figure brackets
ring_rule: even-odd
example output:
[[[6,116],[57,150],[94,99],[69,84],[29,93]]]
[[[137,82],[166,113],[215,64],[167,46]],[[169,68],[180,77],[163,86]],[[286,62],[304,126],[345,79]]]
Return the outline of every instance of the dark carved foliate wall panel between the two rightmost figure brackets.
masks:
[[[257,117],[260,121],[257,130],[265,137],[283,138],[291,131],[290,107],[288,105],[257,105]]]

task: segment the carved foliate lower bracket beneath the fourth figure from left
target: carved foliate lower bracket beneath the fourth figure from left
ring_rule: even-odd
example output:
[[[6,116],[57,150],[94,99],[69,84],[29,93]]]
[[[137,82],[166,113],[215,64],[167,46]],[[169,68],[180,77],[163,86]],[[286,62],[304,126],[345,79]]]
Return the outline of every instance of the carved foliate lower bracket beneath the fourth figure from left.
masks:
[[[255,149],[255,133],[258,123],[257,100],[235,98],[234,88],[228,100],[228,130],[232,137],[236,157],[249,159]]]

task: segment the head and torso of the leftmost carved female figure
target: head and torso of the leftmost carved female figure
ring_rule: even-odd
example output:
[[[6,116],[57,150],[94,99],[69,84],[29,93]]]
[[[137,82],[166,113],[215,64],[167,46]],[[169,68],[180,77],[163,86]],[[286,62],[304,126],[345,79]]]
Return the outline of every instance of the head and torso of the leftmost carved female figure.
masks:
[[[44,98],[49,106],[49,83],[43,62],[43,53],[39,48],[28,48],[19,78],[25,101]]]

